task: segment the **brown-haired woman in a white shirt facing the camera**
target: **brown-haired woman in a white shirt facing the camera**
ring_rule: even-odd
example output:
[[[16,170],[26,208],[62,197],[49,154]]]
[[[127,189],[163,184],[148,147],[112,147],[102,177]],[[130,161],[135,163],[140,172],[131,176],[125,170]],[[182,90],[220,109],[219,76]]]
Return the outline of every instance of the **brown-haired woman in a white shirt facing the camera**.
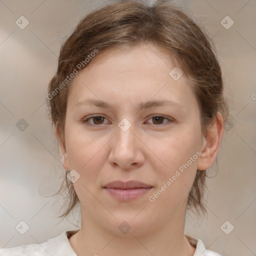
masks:
[[[167,0],[116,2],[63,43],[47,99],[81,228],[1,255],[220,255],[184,234],[229,118],[213,45]],[[61,187],[62,188],[62,187]],[[61,189],[60,189],[61,190]]]

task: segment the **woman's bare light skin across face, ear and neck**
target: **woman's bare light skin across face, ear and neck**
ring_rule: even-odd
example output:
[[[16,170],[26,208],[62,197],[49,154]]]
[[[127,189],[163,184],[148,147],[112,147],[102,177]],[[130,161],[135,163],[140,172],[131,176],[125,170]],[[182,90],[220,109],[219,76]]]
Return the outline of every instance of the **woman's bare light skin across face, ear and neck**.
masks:
[[[128,50],[99,52],[73,78],[60,152],[63,167],[80,175],[73,185],[81,202],[81,228],[69,238],[78,256],[193,255],[195,248],[184,237],[187,196],[196,169],[207,169],[215,160],[223,118],[218,113],[203,137],[189,79],[184,75],[172,79],[173,67],[168,52],[140,43]],[[76,106],[85,98],[116,107]],[[162,99],[183,107],[136,108],[140,102]],[[91,125],[82,123],[91,114],[104,118],[90,118]],[[154,114],[170,121],[152,118]],[[131,124],[126,131],[118,127],[123,118]],[[56,129],[55,133],[59,139]],[[198,150],[201,155],[150,202],[149,196]],[[113,180],[138,180],[153,188],[131,201],[118,201],[102,188]],[[126,234],[118,229],[123,221],[131,227]]]

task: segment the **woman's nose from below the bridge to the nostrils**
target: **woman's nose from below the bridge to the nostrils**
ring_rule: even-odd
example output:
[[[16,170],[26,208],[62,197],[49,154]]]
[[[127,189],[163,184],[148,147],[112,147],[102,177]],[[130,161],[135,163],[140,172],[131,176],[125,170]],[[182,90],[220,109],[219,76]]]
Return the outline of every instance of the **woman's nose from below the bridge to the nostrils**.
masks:
[[[145,160],[143,139],[139,138],[138,132],[133,127],[134,125],[131,125],[124,131],[117,126],[116,134],[110,140],[108,161],[111,165],[118,165],[121,169],[132,169],[143,164]]]

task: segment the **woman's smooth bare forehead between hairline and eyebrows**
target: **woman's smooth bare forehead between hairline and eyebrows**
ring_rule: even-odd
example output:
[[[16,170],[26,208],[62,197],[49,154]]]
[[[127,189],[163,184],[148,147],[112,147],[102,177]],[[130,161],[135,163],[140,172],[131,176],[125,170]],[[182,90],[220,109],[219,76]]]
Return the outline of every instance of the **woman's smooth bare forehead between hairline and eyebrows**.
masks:
[[[117,104],[150,99],[170,99],[187,107],[196,103],[189,79],[181,75],[174,80],[170,53],[155,45],[109,48],[90,61],[72,80],[68,99],[72,105],[85,97]]]

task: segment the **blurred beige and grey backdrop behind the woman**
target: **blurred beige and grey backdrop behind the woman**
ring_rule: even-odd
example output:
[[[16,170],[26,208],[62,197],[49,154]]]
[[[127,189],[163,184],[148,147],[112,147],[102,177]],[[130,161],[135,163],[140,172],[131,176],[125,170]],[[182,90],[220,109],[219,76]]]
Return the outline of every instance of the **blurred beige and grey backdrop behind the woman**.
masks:
[[[0,248],[79,228],[79,212],[61,221],[60,202],[47,197],[64,169],[45,96],[60,45],[80,18],[110,2],[0,0]],[[187,6],[215,43],[235,118],[224,131],[218,170],[211,168],[216,175],[207,181],[207,217],[191,215],[185,233],[222,255],[256,255],[256,1],[175,2]],[[28,21],[16,24],[20,16]],[[29,226],[24,234],[15,228],[20,221]]]

